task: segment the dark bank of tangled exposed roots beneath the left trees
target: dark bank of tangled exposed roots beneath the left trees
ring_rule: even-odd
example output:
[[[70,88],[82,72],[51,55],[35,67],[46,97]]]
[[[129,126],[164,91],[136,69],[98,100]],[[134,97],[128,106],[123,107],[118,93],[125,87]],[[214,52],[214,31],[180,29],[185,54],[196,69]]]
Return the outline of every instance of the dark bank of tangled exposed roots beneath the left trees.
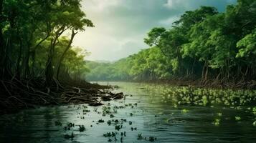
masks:
[[[61,104],[103,105],[101,101],[122,99],[123,93],[114,94],[113,87],[90,84],[85,81],[54,80],[52,87],[44,86],[45,79],[1,80],[0,114],[19,112],[21,109]]]

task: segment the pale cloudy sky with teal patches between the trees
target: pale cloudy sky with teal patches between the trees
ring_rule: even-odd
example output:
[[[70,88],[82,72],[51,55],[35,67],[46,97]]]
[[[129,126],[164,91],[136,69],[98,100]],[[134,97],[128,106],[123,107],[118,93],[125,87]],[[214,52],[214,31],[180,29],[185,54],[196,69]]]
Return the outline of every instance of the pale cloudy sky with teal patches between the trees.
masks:
[[[214,6],[224,11],[236,0],[83,0],[82,10],[94,28],[75,37],[74,46],[90,52],[87,60],[116,61],[148,46],[143,39],[153,27],[166,27],[185,11]]]

